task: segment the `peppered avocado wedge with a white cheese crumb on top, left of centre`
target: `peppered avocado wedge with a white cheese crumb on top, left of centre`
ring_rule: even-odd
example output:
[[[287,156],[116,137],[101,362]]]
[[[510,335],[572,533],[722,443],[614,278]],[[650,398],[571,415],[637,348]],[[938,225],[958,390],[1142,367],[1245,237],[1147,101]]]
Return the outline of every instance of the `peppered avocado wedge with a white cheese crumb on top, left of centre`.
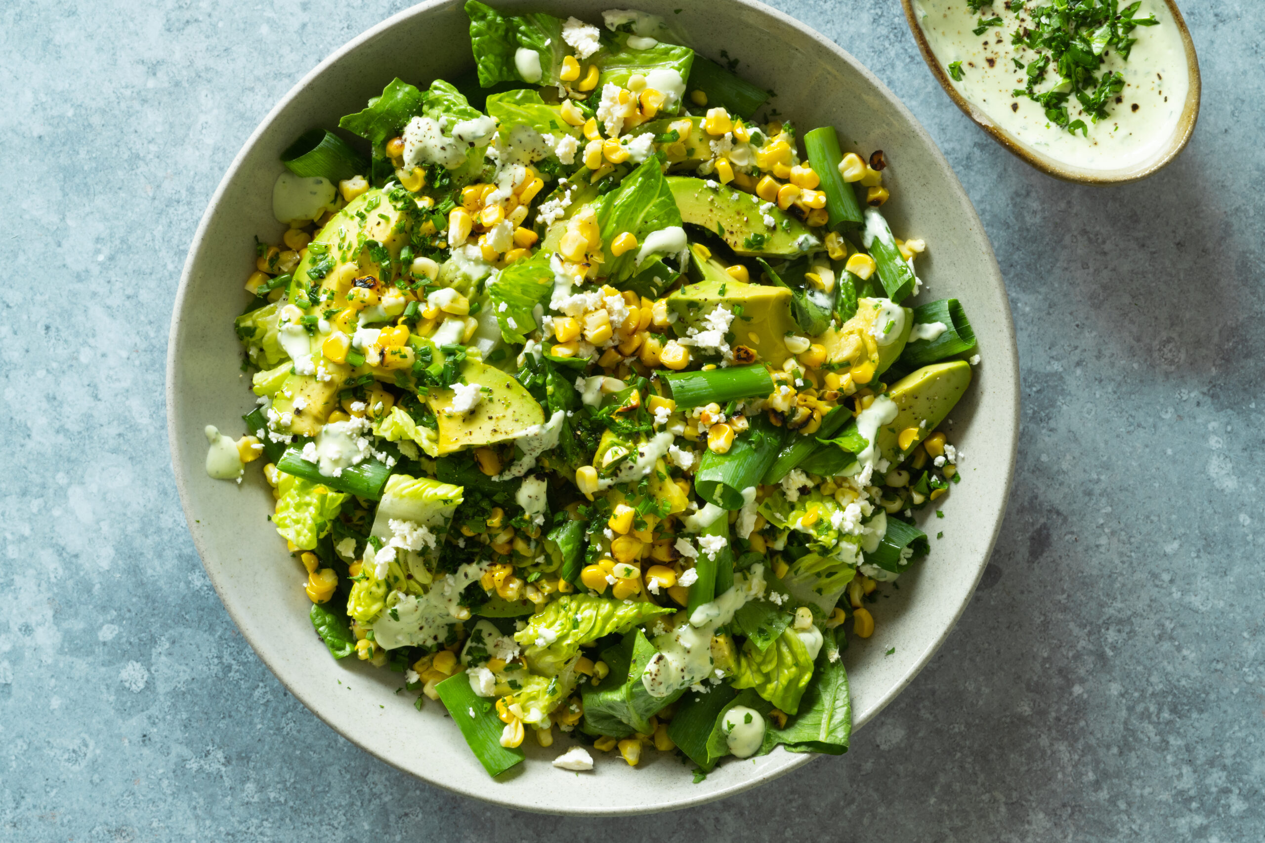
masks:
[[[545,423],[545,411],[512,377],[484,363],[468,360],[462,369],[468,384],[491,391],[468,413],[452,412],[455,393],[431,389],[426,403],[439,421],[439,455],[464,447],[495,445],[521,435],[533,425]]]

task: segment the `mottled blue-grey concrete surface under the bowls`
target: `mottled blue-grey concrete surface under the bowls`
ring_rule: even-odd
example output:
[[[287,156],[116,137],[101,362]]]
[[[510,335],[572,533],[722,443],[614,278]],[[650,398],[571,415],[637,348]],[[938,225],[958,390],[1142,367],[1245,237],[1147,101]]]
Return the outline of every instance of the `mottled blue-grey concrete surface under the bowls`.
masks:
[[[405,5],[0,4],[0,839],[1265,837],[1260,4],[1183,4],[1199,128],[1114,190],[987,139],[896,0],[775,4],[913,109],[979,209],[1018,473],[979,594],[849,755],[614,823],[491,809],[335,736],[237,633],[176,499],[163,360],[206,200],[296,80]]]

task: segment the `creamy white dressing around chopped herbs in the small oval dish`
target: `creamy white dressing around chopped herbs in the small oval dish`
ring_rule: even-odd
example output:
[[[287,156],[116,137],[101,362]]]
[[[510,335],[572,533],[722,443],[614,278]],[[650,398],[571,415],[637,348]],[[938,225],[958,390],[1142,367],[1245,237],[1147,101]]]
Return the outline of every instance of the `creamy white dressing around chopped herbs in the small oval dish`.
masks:
[[[1104,53],[1106,62],[1098,72],[1118,71],[1125,77],[1120,94],[1123,101],[1108,105],[1107,119],[1094,124],[1082,114],[1075,97],[1068,100],[1071,119],[1088,125],[1088,138],[1050,123],[1045,110],[1027,96],[1013,96],[1013,90],[1022,88],[1027,78],[1012,58],[1022,62],[1036,58],[1030,49],[1016,54],[1011,44],[1015,11],[1001,3],[985,8],[983,16],[1001,16],[1003,25],[992,27],[983,35],[973,34],[979,15],[966,9],[963,0],[917,0],[915,14],[941,66],[961,62],[963,78],[951,80],[958,92],[998,129],[1054,161],[1088,169],[1130,167],[1156,155],[1176,130],[1190,81],[1180,32],[1164,3],[1142,1],[1136,16],[1155,15],[1160,23],[1130,33],[1137,40],[1128,61],[1109,48]],[[1030,21],[1027,15],[1025,20]],[[1059,82],[1058,72],[1051,68],[1037,91]]]

